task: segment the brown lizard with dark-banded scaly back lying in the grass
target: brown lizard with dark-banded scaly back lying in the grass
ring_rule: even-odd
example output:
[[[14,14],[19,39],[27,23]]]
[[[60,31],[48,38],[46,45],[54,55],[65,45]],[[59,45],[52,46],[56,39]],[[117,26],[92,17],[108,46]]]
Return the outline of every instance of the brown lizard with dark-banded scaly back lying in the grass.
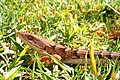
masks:
[[[42,53],[43,55],[45,55],[45,52],[52,54],[52,55],[54,54],[59,55],[61,57],[61,61],[64,63],[77,64],[78,62],[80,62],[81,64],[85,64],[85,55],[86,53],[88,53],[87,63],[90,64],[89,50],[65,47],[63,45],[56,44],[41,36],[37,36],[31,33],[18,32],[18,37],[23,42],[30,45],[33,49],[35,49],[39,53]],[[118,58],[117,64],[120,64],[120,52],[108,52],[108,51],[103,51],[103,50],[94,50],[94,56],[95,58],[98,56],[100,63],[102,64],[108,63],[108,61],[104,57],[107,57],[111,61]]]

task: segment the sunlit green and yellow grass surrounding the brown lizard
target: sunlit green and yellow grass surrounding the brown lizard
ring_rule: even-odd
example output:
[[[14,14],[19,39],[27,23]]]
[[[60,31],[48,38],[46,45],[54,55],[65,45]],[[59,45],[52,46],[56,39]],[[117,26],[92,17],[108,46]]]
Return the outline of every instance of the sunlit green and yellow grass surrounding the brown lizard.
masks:
[[[106,0],[108,1],[108,0]],[[62,45],[120,51],[120,1],[110,0],[1,0],[0,79],[81,80],[120,78],[115,62],[99,64],[97,76],[91,65],[56,65],[39,61],[41,56],[20,41],[18,31],[42,35]],[[107,5],[106,5],[107,4]],[[30,60],[33,63],[29,64]],[[117,77],[116,77],[117,76]]]

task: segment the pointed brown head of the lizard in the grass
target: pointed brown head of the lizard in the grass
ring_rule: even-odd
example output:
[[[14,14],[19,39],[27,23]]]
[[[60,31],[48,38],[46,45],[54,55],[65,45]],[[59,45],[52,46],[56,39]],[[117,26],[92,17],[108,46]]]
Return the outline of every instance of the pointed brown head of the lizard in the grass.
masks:
[[[42,40],[43,38],[41,36],[26,32],[17,32],[17,34],[24,43],[30,45],[37,52],[43,52],[42,48],[47,45],[43,42],[44,40]]]

